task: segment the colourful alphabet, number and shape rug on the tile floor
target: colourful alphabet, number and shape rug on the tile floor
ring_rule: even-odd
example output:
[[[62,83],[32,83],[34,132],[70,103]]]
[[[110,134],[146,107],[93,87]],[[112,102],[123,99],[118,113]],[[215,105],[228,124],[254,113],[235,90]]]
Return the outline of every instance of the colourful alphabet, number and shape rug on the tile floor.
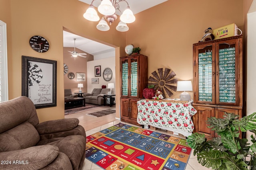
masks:
[[[119,123],[86,137],[86,158],[106,170],[184,170],[186,139]]]

